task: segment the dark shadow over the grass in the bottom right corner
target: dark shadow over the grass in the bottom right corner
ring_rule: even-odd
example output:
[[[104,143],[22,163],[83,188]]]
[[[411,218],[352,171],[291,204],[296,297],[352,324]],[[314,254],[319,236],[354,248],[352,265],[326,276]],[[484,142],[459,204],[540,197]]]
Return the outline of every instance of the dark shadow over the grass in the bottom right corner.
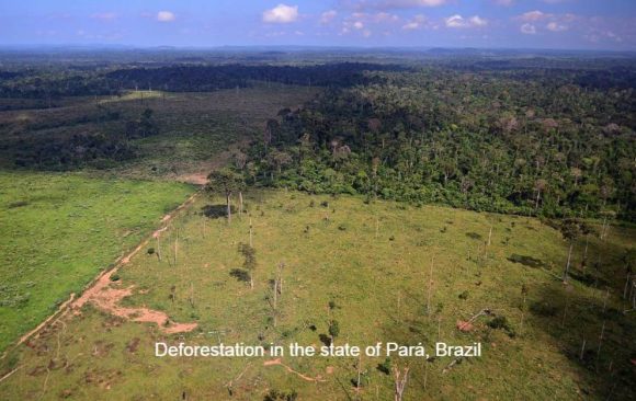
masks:
[[[536,288],[534,288],[536,290]],[[583,397],[628,400],[635,397],[636,330],[634,319],[610,306],[605,291],[584,295],[581,288],[555,282],[531,294],[527,321],[548,334],[568,358]]]

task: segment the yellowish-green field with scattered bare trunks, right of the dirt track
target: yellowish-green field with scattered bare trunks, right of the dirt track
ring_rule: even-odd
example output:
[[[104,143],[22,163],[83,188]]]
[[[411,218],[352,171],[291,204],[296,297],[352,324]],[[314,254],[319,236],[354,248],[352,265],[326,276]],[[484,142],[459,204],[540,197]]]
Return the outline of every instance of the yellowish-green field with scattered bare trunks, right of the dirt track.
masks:
[[[0,376],[16,370],[0,382],[0,393],[20,400],[266,400],[277,390],[296,391],[298,400],[393,400],[393,378],[377,368],[384,357],[361,359],[357,393],[356,358],[285,356],[291,371],[263,365],[268,357],[154,356],[157,341],[321,345],[331,313],[340,326],[336,345],[482,343],[482,357],[446,373],[450,357],[391,358],[393,366],[410,367],[405,400],[635,397],[636,316],[623,313],[622,298],[634,229],[612,227],[604,240],[590,238],[593,263],[584,273],[583,242],[577,243],[577,278],[566,286],[555,276],[567,243],[533,218],[279,191],[249,194],[249,215],[228,226],[203,214],[223,210],[222,203],[200,197],[111,284],[133,286],[123,306],[164,311],[173,321],[196,322],[196,330],[170,335],[89,303],[1,360]],[[237,271],[250,220],[253,289]],[[281,263],[284,290],[274,325],[271,280]],[[94,274],[96,266],[90,268]],[[457,321],[482,309],[506,317],[508,330],[491,328],[491,317],[478,318],[469,332],[457,330]]]

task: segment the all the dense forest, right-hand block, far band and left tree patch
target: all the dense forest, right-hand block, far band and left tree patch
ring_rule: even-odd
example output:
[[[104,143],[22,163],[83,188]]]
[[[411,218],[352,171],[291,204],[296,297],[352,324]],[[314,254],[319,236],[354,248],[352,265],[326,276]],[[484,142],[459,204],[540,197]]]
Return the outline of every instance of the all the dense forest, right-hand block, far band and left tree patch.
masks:
[[[59,107],[68,96],[138,90],[321,87],[317,99],[282,110],[243,149],[237,165],[248,182],[475,210],[636,221],[631,59],[378,60],[41,64],[2,71],[0,98],[18,111]],[[107,168],[137,158],[136,139],[161,131],[150,108],[132,114],[96,98],[90,113],[63,123],[2,121],[11,135],[0,150],[18,168]],[[96,128],[37,134],[57,133],[56,124],[88,123]]]

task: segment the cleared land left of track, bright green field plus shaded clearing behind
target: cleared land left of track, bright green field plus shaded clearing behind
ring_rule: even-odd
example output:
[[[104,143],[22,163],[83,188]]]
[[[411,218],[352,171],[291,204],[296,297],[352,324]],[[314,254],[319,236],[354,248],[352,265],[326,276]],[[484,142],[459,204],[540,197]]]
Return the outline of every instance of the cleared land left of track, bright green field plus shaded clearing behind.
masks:
[[[0,351],[136,245],[282,107],[316,93],[263,85],[213,93],[128,92],[0,112],[0,168],[16,152],[76,135],[114,136],[154,110],[158,135],[138,156],[81,173],[0,172]],[[16,104],[3,100],[1,104]],[[47,107],[26,102],[25,107]],[[118,115],[118,118],[105,118]],[[103,162],[103,161],[102,161]]]

